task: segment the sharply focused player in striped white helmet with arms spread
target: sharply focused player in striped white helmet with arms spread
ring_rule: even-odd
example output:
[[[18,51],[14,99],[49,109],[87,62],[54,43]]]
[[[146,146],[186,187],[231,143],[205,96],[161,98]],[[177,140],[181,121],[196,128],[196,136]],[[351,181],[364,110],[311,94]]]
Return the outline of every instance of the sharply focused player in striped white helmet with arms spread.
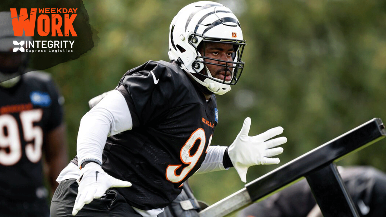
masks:
[[[275,127],[248,136],[248,117],[230,146],[210,146],[216,97],[240,78],[245,41],[239,21],[216,2],[174,17],[169,58],[129,70],[81,119],[77,157],[61,172],[51,216],[155,217],[193,173],[277,164],[286,137]]]

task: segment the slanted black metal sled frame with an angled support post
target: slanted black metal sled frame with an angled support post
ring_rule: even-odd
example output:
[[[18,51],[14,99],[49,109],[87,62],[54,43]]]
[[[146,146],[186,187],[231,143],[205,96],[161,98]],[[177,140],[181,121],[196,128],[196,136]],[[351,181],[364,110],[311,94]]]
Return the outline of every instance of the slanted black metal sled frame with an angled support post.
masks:
[[[379,118],[342,134],[293,159],[250,183],[238,192],[202,210],[200,217],[223,217],[278,192],[305,177],[324,217],[359,217],[335,162],[386,136]]]

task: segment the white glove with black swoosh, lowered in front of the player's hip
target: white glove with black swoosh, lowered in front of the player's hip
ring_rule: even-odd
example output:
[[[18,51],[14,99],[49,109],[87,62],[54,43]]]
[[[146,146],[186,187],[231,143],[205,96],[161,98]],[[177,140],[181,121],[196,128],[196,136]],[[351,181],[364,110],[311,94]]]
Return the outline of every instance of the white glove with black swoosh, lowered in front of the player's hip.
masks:
[[[76,215],[85,204],[91,203],[94,198],[102,197],[108,188],[130,187],[129,181],[122,181],[108,175],[97,163],[88,163],[80,170],[78,195],[75,199],[73,215]]]

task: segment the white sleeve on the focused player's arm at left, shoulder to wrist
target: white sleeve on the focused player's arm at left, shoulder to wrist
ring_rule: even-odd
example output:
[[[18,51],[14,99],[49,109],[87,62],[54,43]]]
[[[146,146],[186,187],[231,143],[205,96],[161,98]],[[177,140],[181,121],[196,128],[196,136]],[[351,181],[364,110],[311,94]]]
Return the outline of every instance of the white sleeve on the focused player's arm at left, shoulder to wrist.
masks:
[[[102,162],[107,137],[131,130],[132,126],[129,107],[122,93],[118,90],[110,92],[80,121],[76,141],[78,164],[88,158]]]

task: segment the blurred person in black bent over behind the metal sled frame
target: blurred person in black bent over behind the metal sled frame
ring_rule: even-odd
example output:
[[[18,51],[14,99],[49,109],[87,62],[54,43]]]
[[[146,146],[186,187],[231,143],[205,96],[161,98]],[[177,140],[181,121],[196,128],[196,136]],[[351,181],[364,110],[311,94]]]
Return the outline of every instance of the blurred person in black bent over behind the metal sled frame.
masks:
[[[370,166],[339,167],[361,217],[386,216],[386,174]],[[323,217],[307,181],[301,180],[239,212],[238,217]]]

